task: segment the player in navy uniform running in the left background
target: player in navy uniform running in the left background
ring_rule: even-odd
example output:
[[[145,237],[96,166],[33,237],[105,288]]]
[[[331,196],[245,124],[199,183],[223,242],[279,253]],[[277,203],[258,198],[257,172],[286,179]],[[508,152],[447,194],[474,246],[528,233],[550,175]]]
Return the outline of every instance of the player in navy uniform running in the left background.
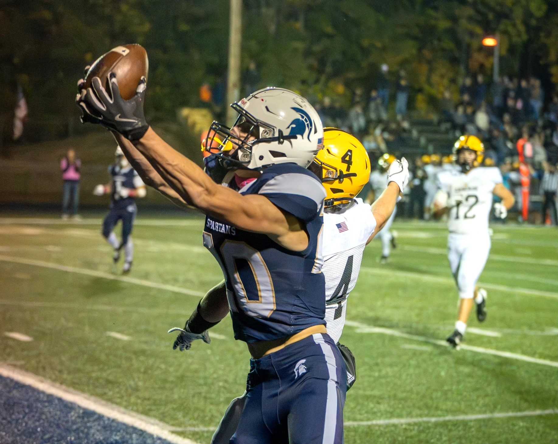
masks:
[[[143,180],[129,164],[121,147],[116,147],[114,156],[116,162],[108,167],[112,180],[106,185],[97,185],[93,194],[110,194],[110,211],[103,221],[103,236],[114,249],[112,259],[115,268],[124,249],[122,273],[127,274],[132,269],[134,256],[132,230],[137,214],[136,198],[145,197],[147,192]],[[113,231],[118,221],[122,221],[122,241],[118,241]]]

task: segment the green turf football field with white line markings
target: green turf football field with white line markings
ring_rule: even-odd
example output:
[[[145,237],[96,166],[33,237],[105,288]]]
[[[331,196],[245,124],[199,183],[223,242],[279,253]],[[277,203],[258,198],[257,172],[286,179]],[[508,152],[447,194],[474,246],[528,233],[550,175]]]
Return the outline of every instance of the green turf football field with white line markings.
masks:
[[[228,318],[211,345],[196,342],[188,352],[172,351],[175,336],[166,334],[222,278],[201,246],[203,222],[140,212],[134,268],[122,278],[111,273],[100,216],[0,218],[0,362],[208,443],[243,392],[249,355]],[[373,241],[349,298],[341,342],[357,357],[358,380],[345,405],[345,442],[558,442],[558,230],[493,226],[481,276],[488,319],[480,326],[473,314],[469,327],[480,330],[454,351],[440,342],[457,303],[445,226],[394,228],[391,262],[377,263]],[[487,417],[462,418],[475,415]]]

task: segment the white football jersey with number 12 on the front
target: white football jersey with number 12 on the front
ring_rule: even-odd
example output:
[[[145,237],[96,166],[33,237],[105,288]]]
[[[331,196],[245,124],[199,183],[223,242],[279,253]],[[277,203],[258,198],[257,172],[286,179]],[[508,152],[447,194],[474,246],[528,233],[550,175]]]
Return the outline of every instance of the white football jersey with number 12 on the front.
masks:
[[[473,168],[468,174],[461,171],[438,174],[438,188],[448,193],[451,199],[461,201],[448,214],[450,233],[488,232],[492,192],[499,183],[502,183],[502,174],[493,166]]]

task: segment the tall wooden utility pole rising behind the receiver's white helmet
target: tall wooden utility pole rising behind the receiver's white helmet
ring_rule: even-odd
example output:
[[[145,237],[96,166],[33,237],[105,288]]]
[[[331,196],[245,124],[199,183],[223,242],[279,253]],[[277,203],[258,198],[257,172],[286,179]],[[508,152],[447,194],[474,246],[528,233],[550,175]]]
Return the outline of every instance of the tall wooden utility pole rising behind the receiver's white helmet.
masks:
[[[240,61],[242,46],[242,0],[230,0],[229,69],[227,76],[227,105],[240,98]],[[236,112],[227,108],[227,124],[233,125]]]

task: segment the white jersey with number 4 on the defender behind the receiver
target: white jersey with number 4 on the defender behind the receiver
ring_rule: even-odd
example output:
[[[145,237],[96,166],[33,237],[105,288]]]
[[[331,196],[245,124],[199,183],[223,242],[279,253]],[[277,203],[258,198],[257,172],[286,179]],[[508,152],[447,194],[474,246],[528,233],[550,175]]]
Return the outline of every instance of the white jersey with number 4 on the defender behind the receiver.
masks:
[[[360,198],[355,200],[344,211],[324,213],[321,271],[325,277],[325,321],[328,334],[335,342],[339,341],[345,326],[347,298],[357,284],[364,247],[376,228],[371,206]]]

